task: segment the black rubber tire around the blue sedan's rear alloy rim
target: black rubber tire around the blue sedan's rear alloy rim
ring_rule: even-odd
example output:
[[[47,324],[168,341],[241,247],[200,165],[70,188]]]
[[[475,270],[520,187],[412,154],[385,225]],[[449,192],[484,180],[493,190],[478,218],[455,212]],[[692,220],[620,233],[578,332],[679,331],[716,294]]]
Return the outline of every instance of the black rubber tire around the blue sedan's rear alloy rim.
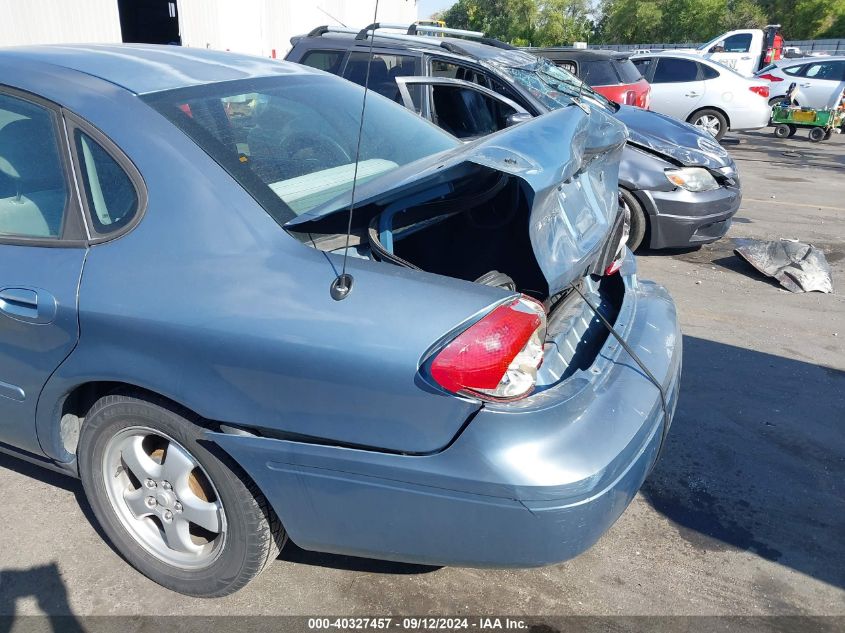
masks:
[[[278,556],[287,536],[255,484],[228,455],[204,439],[206,429],[199,422],[195,415],[164,398],[139,392],[105,396],[85,418],[78,463],[88,502],[118,552],[142,574],[168,589],[212,598],[233,593],[255,578]],[[124,526],[110,501],[103,473],[106,446],[117,433],[135,427],[152,429],[175,440],[213,485],[225,513],[225,538],[208,566],[183,569],[164,562]]]

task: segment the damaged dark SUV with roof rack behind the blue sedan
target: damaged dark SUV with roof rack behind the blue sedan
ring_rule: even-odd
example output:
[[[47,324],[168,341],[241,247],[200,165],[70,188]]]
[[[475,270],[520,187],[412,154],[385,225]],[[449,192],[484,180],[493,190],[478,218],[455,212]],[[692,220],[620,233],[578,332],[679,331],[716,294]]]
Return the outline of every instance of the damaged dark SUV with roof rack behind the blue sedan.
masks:
[[[740,186],[733,160],[712,137],[613,103],[549,60],[497,40],[411,26],[379,31],[373,41],[372,26],[379,28],[317,27],[291,39],[286,59],[363,84],[372,45],[369,86],[467,141],[560,108],[611,112],[629,133],[619,187],[631,212],[631,249],[697,246],[728,231]],[[438,37],[419,34],[427,31]]]

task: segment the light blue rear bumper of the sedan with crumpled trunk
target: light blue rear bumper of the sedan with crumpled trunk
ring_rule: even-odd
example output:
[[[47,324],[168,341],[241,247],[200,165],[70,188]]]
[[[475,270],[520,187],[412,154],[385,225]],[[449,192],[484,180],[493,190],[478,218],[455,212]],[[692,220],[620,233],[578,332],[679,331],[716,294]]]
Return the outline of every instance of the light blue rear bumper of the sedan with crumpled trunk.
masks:
[[[305,549],[490,567],[571,558],[636,494],[677,400],[674,304],[633,274],[626,287],[617,329],[666,388],[668,419],[658,390],[611,337],[589,369],[517,406],[483,407],[435,454],[210,437],[254,478]]]

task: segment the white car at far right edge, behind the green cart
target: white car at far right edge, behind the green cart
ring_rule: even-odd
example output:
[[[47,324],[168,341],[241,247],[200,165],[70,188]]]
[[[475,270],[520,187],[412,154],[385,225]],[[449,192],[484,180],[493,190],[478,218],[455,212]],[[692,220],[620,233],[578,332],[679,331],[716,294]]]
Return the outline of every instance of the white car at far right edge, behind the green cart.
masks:
[[[772,104],[781,101],[795,83],[798,105],[828,108],[836,105],[845,89],[845,57],[784,59],[762,68],[756,76],[769,82]]]

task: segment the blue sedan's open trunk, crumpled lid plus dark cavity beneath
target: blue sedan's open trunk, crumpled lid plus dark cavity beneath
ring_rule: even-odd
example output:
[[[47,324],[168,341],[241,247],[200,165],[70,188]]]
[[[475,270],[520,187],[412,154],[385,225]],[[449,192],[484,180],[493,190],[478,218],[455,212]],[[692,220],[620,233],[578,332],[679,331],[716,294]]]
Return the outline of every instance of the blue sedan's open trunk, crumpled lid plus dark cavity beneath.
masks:
[[[548,301],[617,254],[625,138],[573,105],[359,183],[349,254]],[[342,253],[348,197],[286,227]]]

